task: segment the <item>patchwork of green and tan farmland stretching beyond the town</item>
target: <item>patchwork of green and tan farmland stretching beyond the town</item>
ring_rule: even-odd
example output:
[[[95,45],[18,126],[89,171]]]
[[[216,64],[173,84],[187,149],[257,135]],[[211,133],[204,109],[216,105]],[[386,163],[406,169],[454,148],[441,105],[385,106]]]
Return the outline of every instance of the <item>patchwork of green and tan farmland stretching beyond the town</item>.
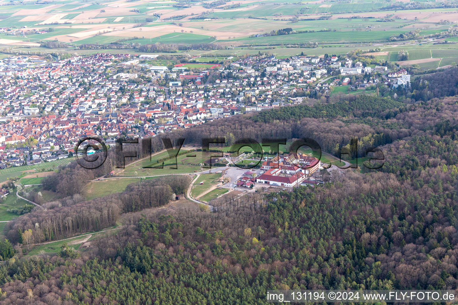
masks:
[[[29,4],[30,3],[30,4]],[[392,35],[419,30],[421,35],[434,34],[449,28],[441,20],[458,21],[453,8],[391,11],[391,2],[355,0],[351,3],[229,1],[211,8],[205,3],[191,2],[189,8],[178,8],[174,2],[147,0],[97,4],[73,0],[52,0],[46,4],[26,2],[22,5],[0,7],[0,27],[14,26],[29,29],[53,27],[52,33],[20,36],[22,43],[11,40],[2,44],[37,47],[35,39],[60,42],[112,43],[121,38],[138,37],[129,43],[200,44],[214,43],[221,46],[287,45],[290,43],[387,43]],[[226,5],[233,5],[226,7]],[[318,19],[323,17],[324,19]],[[313,20],[313,19],[316,20]],[[378,18],[390,18],[379,22]],[[0,18],[1,19],[1,18]],[[267,36],[265,33],[291,28],[289,35]],[[307,31],[307,32],[305,32]],[[102,35],[98,35],[103,33]],[[260,37],[254,37],[258,35]],[[27,41],[26,39],[29,39]],[[453,37],[449,41],[458,41]],[[72,41],[70,41],[72,40]],[[345,54],[345,46],[333,54]],[[354,48],[355,46],[348,46]],[[357,47],[357,46],[356,46]],[[71,47],[69,47],[71,48]],[[234,49],[213,50],[218,55],[234,53]],[[224,51],[224,52],[220,52]],[[278,56],[300,54],[302,49],[283,49]],[[394,51],[394,50],[393,50]],[[318,55],[317,50],[308,54]],[[197,53],[197,52],[196,52]],[[200,52],[202,53],[202,52]],[[236,53],[236,52],[235,52]],[[251,52],[249,52],[251,53]],[[304,52],[306,53],[306,52]],[[242,53],[243,54],[243,53]],[[246,53],[245,53],[246,54]],[[322,54],[322,53],[321,53]],[[426,52],[414,52],[410,59],[425,59]],[[396,61],[389,54],[388,60]],[[431,57],[431,54],[430,54]],[[433,57],[436,57],[433,54]],[[449,57],[449,56],[440,56]],[[453,56],[452,56],[453,57]],[[204,62],[204,59],[198,59]]]

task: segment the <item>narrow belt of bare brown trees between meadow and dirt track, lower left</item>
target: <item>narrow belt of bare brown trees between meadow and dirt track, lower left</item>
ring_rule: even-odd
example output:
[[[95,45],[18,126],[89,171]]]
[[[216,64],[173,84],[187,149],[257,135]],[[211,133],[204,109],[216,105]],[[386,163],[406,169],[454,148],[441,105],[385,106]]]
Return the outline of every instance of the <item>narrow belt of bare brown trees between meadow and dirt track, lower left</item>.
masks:
[[[132,183],[122,193],[89,201],[81,193],[74,193],[45,203],[45,209],[36,208],[16,218],[5,226],[4,232],[13,245],[17,242],[31,245],[105,229],[116,225],[124,213],[169,203],[172,194],[184,193],[189,183],[190,178],[185,176],[160,177]],[[32,230],[32,234],[24,240],[23,232],[27,230]]]

